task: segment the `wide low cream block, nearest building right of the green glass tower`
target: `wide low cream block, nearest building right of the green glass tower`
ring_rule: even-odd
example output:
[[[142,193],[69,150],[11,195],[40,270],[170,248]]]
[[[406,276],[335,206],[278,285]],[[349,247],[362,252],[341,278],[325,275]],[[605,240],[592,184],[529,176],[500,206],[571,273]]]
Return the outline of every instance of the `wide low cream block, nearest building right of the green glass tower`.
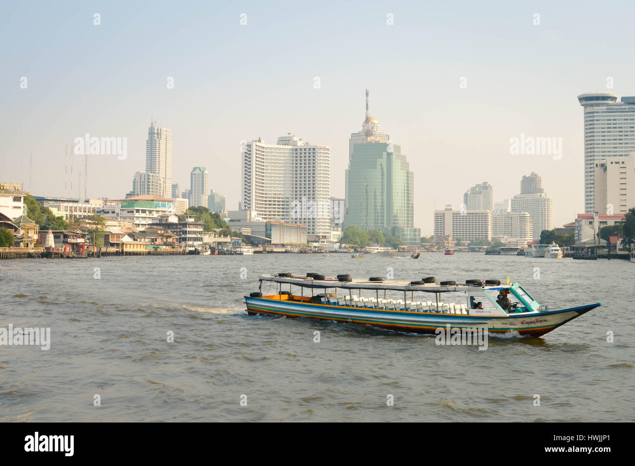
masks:
[[[446,205],[444,210],[434,211],[434,240],[450,237],[465,243],[485,239],[491,241],[491,211],[453,210]]]

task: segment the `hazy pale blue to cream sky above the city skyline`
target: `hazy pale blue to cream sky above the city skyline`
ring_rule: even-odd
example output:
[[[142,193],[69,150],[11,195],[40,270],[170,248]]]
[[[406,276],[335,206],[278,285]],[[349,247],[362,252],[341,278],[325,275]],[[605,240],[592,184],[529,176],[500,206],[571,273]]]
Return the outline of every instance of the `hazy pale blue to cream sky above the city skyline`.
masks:
[[[458,208],[475,183],[490,182],[498,201],[518,194],[531,171],[554,198],[559,226],[584,212],[577,95],[606,90],[607,77],[611,91],[635,95],[635,7],[601,5],[4,2],[0,181],[64,196],[65,144],[85,133],[126,137],[127,159],[88,159],[88,197],[122,198],[145,170],[152,117],[172,130],[181,190],[193,166],[206,166],[210,188],[237,208],[240,141],[290,132],[330,145],[331,195],[343,197],[348,138],[361,129],[368,87],[371,115],[415,173],[423,234],[432,234],[435,207]],[[521,133],[561,137],[562,158],[511,155]],[[78,196],[83,165],[76,156],[69,196]]]

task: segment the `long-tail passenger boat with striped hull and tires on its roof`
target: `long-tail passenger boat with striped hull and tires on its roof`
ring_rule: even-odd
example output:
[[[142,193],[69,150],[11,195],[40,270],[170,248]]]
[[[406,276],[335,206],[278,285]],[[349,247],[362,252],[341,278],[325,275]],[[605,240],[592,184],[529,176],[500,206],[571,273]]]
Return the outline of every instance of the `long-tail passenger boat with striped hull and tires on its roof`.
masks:
[[[601,303],[549,310],[518,283],[425,277],[417,281],[331,278],[319,274],[262,275],[259,291],[244,296],[250,315],[309,317],[392,330],[435,333],[438,328],[486,328],[489,333],[541,336]],[[269,290],[263,293],[263,285]],[[271,290],[273,288],[273,290]],[[317,293],[316,293],[317,291]]]

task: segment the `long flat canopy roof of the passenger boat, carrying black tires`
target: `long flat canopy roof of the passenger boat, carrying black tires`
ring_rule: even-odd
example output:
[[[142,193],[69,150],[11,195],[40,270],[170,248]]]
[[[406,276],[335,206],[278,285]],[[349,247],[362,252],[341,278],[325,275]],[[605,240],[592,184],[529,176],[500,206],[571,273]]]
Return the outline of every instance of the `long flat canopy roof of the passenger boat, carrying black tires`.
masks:
[[[312,277],[291,276],[281,277],[277,274],[261,275],[261,281],[287,283],[304,286],[307,288],[349,288],[351,290],[394,290],[394,291],[426,291],[429,293],[446,293],[448,291],[474,291],[474,290],[504,290],[511,285],[483,286],[482,284],[441,285],[439,283],[425,283],[420,285],[410,284],[409,281],[384,280],[370,281],[364,279],[352,279],[352,281],[338,281],[337,278],[324,277],[324,280],[314,280]]]

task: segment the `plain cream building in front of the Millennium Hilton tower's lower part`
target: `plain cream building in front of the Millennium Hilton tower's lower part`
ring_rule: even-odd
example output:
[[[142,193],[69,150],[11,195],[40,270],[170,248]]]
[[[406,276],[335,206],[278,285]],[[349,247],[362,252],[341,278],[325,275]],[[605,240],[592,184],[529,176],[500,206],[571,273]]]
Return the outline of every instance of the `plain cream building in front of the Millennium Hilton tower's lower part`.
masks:
[[[635,207],[635,152],[595,164],[595,212],[627,213]]]

